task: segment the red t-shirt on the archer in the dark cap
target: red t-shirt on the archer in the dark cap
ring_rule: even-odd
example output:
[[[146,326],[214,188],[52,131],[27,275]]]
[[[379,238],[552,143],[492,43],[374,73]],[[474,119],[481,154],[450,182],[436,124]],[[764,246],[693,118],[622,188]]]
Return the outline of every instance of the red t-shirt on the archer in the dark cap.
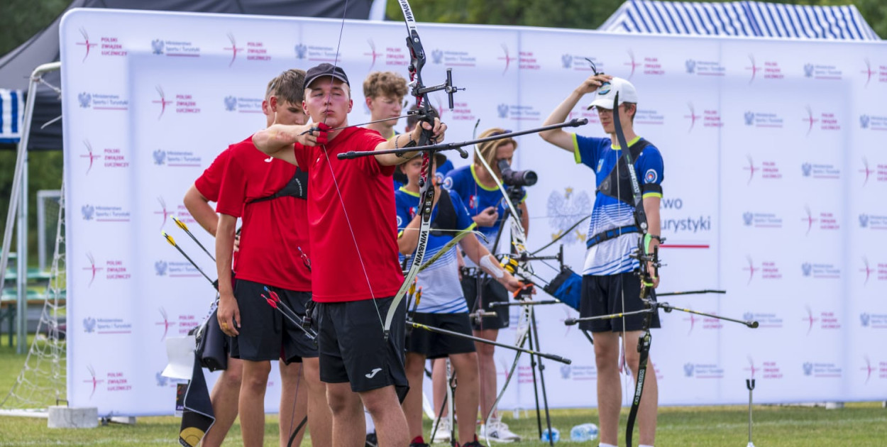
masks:
[[[321,146],[295,145],[295,158],[309,175],[314,301],[394,296],[404,282],[397,263],[394,167],[381,166],[375,157],[336,158],[337,153],[372,151],[384,142],[374,130],[350,128],[326,144],[326,154]]]

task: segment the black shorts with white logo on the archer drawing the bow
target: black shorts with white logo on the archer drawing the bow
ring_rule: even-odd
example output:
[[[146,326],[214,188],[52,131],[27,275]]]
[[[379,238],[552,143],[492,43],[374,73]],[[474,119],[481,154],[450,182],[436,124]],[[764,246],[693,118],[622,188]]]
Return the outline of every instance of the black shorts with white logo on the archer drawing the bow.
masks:
[[[321,381],[349,382],[355,392],[394,385],[398,396],[405,396],[405,301],[397,306],[388,341],[382,332],[393,301],[380,298],[375,304],[373,300],[317,303]]]

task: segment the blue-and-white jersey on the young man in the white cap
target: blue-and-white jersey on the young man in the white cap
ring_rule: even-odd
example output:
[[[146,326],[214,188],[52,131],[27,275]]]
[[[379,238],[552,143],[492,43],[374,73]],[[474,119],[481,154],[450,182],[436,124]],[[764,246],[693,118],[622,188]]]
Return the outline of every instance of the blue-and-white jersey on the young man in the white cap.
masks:
[[[616,161],[623,156],[622,151],[613,146],[609,138],[582,137],[573,135],[573,154],[577,163],[594,169],[595,187],[607,178],[616,167]],[[628,142],[631,147],[640,141],[635,137]],[[654,145],[647,145],[634,161],[638,184],[662,184],[663,157]],[[629,191],[631,193],[631,191]],[[643,197],[662,197],[661,192],[644,192]],[[634,224],[634,208],[629,203],[617,200],[600,191],[595,194],[592,220],[588,227],[588,238],[602,231]],[[629,257],[638,247],[640,233],[623,234],[589,247],[585,252],[583,275],[613,275],[633,271],[639,267],[638,261]]]

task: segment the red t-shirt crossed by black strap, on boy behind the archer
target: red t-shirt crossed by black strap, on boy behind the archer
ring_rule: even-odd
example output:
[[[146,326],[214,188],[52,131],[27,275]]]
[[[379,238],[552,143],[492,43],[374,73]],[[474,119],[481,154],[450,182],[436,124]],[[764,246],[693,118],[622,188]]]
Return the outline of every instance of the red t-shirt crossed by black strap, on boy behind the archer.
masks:
[[[259,152],[252,137],[231,145],[227,152],[216,211],[243,221],[237,278],[309,292],[310,271],[299,251],[301,247],[305,255],[311,255],[307,203],[294,197],[250,203],[280,191],[296,168]]]

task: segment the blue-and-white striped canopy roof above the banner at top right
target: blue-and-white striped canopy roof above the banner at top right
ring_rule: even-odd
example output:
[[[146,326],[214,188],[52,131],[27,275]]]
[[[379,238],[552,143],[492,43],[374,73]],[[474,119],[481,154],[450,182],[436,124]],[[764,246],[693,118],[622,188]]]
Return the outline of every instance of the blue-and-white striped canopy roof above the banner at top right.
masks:
[[[881,40],[853,5],[630,0],[599,29],[616,33]]]

